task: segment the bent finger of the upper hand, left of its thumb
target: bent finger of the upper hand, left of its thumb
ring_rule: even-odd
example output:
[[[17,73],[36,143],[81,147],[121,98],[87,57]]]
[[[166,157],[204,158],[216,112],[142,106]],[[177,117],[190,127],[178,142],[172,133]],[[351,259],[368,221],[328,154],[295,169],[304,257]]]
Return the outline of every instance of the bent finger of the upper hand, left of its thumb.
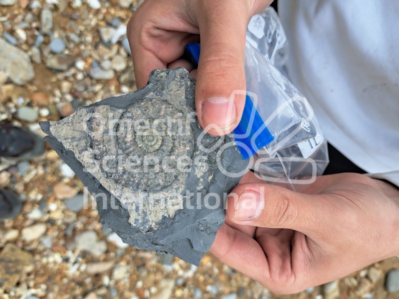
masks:
[[[173,9],[170,1],[154,2],[145,1],[127,26],[138,88],[147,84],[151,71],[166,68],[183,55],[188,43],[199,41],[198,27],[185,21],[183,12]]]

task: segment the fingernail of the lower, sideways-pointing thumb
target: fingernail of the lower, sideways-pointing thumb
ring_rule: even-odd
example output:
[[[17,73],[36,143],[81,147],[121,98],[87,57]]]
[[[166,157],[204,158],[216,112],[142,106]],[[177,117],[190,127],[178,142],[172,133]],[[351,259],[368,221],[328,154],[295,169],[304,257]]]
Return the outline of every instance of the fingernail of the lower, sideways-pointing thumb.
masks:
[[[259,217],[264,207],[262,195],[258,192],[243,192],[234,209],[235,221],[253,220]]]

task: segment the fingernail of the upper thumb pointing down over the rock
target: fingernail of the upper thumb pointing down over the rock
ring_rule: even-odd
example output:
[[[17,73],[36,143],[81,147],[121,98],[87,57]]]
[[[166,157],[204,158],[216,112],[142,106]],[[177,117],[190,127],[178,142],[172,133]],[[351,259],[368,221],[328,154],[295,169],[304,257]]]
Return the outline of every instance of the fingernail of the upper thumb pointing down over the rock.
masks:
[[[221,131],[231,129],[236,121],[235,102],[227,98],[209,98],[202,105],[202,121]]]

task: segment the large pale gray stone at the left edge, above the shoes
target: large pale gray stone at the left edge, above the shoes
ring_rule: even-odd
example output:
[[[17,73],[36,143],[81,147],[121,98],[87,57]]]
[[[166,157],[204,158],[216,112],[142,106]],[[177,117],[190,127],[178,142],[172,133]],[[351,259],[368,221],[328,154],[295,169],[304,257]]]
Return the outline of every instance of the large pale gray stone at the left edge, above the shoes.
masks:
[[[0,69],[17,85],[24,85],[34,78],[28,54],[0,38]]]

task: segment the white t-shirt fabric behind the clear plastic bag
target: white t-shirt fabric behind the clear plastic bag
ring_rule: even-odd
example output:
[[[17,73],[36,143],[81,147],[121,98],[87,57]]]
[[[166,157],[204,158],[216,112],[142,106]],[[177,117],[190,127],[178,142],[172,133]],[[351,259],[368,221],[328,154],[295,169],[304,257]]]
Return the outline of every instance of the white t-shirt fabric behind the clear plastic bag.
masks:
[[[289,76],[327,140],[368,172],[399,170],[399,1],[279,0]]]

